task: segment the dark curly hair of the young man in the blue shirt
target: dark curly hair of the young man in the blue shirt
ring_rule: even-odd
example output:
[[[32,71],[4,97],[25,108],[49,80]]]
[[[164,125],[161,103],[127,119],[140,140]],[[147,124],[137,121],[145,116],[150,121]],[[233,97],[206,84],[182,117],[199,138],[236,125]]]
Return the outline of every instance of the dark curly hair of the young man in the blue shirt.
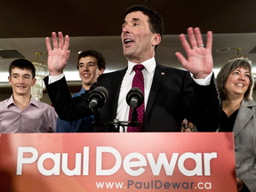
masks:
[[[96,50],[87,49],[78,54],[77,65],[76,65],[77,69],[79,69],[79,60],[81,60],[81,58],[88,57],[88,56],[94,57],[97,60],[97,65],[99,70],[106,68],[106,61],[102,53],[97,52]]]

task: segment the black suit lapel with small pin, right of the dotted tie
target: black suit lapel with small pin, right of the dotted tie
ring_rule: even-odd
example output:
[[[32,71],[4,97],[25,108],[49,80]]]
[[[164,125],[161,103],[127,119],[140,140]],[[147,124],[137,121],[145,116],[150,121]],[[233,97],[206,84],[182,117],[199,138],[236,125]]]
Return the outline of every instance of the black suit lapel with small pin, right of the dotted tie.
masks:
[[[147,104],[147,108],[146,108],[146,113],[144,116],[144,119],[147,120],[148,117],[148,113],[150,111],[150,109],[152,108],[152,106],[154,105],[154,102],[156,100],[156,96],[160,90],[160,88],[162,87],[162,85],[164,84],[164,80],[165,78],[168,76],[167,73],[165,73],[165,69],[166,67],[159,65],[158,63],[156,63],[156,70],[155,70],[155,74],[153,77],[153,82],[151,85],[151,90],[149,93],[149,97],[148,97],[148,104]]]

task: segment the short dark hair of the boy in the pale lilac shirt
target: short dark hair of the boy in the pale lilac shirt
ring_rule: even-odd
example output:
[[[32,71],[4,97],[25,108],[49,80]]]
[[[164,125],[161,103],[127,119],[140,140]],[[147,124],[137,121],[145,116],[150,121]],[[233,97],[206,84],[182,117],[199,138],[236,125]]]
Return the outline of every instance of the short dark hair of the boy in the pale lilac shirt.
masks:
[[[22,70],[24,70],[24,69],[29,70],[31,72],[31,74],[32,74],[32,78],[33,79],[36,76],[36,68],[28,60],[25,60],[25,59],[13,60],[12,63],[10,64],[10,66],[9,66],[9,76],[11,76],[13,68],[20,68]]]

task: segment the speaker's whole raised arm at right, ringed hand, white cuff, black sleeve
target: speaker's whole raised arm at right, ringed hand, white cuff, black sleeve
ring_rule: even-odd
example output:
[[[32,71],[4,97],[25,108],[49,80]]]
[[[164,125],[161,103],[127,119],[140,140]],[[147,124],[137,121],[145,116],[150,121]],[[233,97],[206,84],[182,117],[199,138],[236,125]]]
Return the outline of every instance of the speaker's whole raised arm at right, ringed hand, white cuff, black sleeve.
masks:
[[[216,132],[220,125],[221,102],[212,76],[212,32],[207,33],[206,48],[199,28],[188,28],[188,39],[191,47],[185,35],[180,35],[180,42],[188,60],[180,52],[176,52],[176,55],[183,67],[192,74],[192,78],[194,77],[193,91],[196,102],[188,102],[189,96],[186,91],[189,90],[189,84],[188,87],[184,84],[184,114],[188,120],[196,124],[199,131]],[[211,126],[206,125],[209,122]]]

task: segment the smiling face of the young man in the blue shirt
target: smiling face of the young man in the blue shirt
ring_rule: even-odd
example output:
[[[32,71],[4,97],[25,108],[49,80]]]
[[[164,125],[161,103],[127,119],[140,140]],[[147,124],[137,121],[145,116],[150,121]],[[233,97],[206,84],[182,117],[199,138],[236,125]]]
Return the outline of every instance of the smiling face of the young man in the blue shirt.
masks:
[[[97,60],[92,56],[81,58],[78,69],[85,90],[89,90],[91,85],[97,81],[98,76],[104,72],[104,69],[99,70]]]

